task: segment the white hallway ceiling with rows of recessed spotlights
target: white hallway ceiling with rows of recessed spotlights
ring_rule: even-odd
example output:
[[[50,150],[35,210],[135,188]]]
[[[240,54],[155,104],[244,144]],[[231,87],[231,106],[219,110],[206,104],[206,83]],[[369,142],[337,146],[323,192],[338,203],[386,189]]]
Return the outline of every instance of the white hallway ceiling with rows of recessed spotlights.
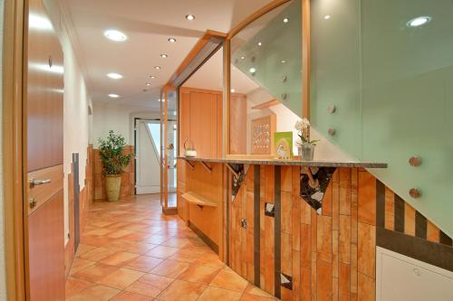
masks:
[[[159,89],[169,80],[199,37],[207,29],[227,33],[247,15],[271,0],[62,0],[69,12],[72,39],[86,74],[93,101],[159,108]],[[194,14],[192,22],[185,15]],[[108,29],[120,30],[129,39],[111,42]],[[178,40],[169,43],[169,37]],[[169,58],[162,59],[165,53]],[[213,57],[221,62],[221,52]],[[154,70],[154,66],[162,67]],[[218,65],[221,68],[221,63]],[[215,67],[217,68],[217,66]],[[209,70],[209,68],[207,68]],[[109,72],[124,76],[106,77]],[[149,79],[149,75],[157,76]],[[198,74],[198,82],[212,82],[209,71]],[[219,74],[221,79],[221,73]],[[151,86],[147,87],[146,83]],[[221,87],[221,86],[219,86]],[[148,91],[143,91],[148,89]],[[241,88],[242,89],[242,88]],[[244,88],[248,89],[248,88]],[[120,99],[110,99],[115,93]]]

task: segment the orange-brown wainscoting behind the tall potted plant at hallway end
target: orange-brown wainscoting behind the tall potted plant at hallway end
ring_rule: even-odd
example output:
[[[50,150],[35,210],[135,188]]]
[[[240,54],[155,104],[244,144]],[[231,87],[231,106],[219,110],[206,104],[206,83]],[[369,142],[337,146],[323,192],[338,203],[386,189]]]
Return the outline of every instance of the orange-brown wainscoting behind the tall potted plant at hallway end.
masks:
[[[130,154],[134,152],[134,146],[126,146],[125,154]],[[99,156],[99,149],[93,149],[92,152],[93,158],[93,197],[95,202],[105,201],[107,194],[105,192],[105,181],[104,175],[102,174],[102,161]],[[133,158],[130,160],[130,165],[128,165],[122,175],[121,175],[121,189],[120,197],[126,197],[130,195],[135,195],[135,165]]]

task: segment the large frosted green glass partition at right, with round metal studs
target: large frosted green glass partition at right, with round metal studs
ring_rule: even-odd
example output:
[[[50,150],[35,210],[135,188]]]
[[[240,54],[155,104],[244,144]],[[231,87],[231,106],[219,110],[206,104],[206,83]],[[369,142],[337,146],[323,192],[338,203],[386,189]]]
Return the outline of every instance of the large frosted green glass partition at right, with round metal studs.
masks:
[[[314,126],[348,155],[388,163],[371,172],[453,235],[453,2],[316,0],[311,8]],[[419,167],[409,164],[414,155]]]

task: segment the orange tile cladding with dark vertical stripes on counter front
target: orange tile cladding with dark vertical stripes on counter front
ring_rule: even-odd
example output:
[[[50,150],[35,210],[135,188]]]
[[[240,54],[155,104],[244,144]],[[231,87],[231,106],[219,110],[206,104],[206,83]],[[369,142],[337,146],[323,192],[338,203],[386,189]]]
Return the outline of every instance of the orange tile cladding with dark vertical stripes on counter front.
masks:
[[[318,214],[300,167],[250,165],[226,211],[226,263],[282,300],[374,300],[376,246],[453,270],[452,240],[361,168],[336,169]]]

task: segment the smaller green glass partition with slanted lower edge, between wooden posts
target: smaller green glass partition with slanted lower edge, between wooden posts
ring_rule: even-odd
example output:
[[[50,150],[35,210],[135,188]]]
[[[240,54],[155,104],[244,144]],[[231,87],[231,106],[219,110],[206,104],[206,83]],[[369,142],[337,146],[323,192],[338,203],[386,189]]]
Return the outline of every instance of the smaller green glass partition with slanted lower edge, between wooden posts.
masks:
[[[264,14],[231,39],[232,87],[249,92],[235,71],[302,116],[302,8],[290,1]],[[236,69],[235,69],[236,68]]]

